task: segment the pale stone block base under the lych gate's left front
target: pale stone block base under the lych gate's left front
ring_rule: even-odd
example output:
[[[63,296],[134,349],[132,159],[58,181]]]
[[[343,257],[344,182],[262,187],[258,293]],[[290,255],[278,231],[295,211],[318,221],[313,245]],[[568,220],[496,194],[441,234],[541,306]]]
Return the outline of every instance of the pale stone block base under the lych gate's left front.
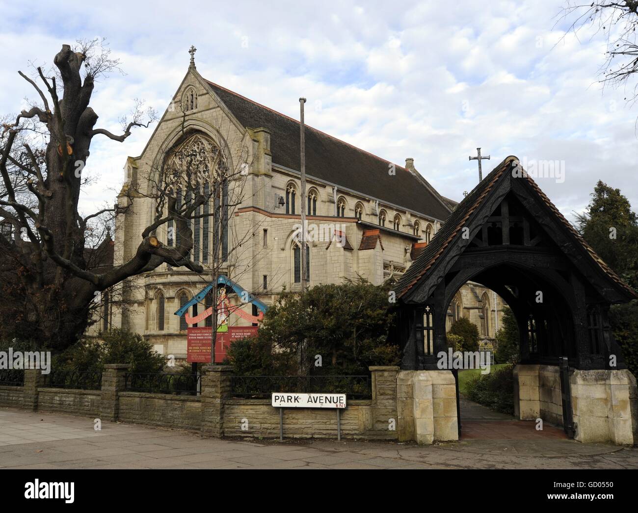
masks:
[[[399,441],[458,440],[456,380],[449,370],[402,370],[397,376]]]

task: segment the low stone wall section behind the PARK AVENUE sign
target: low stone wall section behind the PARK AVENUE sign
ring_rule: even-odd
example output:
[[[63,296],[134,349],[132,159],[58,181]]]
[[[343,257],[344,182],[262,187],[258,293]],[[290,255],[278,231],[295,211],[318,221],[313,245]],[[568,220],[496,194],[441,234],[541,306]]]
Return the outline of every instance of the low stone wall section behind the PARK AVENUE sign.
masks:
[[[372,401],[348,401],[341,410],[341,437],[373,438]],[[387,426],[387,421],[385,423]],[[224,401],[224,435],[279,437],[279,408],[270,400],[227,399]],[[286,438],[336,438],[337,411],[333,408],[284,408]]]

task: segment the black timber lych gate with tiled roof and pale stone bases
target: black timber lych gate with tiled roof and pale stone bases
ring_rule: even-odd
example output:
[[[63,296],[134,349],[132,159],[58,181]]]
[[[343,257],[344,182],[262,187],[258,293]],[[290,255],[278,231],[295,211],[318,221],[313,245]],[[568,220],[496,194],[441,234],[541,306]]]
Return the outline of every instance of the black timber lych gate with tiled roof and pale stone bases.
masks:
[[[582,442],[633,443],[635,379],[612,336],[609,307],[636,295],[516,157],[464,198],[396,285],[399,437],[456,439],[454,377],[441,370],[438,354],[447,352],[448,306],[469,280],[500,294],[516,317],[520,419],[563,425]]]

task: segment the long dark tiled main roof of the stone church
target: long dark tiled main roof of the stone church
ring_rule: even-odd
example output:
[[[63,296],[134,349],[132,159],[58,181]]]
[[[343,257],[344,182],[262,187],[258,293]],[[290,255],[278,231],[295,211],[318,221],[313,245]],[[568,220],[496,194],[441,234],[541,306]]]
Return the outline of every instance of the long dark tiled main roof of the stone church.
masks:
[[[209,82],[212,90],[244,127],[271,132],[272,163],[299,170],[299,121]],[[450,215],[448,203],[410,171],[306,125],[306,172],[372,198],[423,213],[438,220]]]

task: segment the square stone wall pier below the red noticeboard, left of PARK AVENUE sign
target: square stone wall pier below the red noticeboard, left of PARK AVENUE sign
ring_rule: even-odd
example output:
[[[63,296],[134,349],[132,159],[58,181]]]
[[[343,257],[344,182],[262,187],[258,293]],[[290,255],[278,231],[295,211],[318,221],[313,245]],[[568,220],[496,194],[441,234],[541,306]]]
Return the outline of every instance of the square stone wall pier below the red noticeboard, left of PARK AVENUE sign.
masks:
[[[207,365],[202,373],[202,436],[223,437],[224,401],[230,397],[232,365]]]

